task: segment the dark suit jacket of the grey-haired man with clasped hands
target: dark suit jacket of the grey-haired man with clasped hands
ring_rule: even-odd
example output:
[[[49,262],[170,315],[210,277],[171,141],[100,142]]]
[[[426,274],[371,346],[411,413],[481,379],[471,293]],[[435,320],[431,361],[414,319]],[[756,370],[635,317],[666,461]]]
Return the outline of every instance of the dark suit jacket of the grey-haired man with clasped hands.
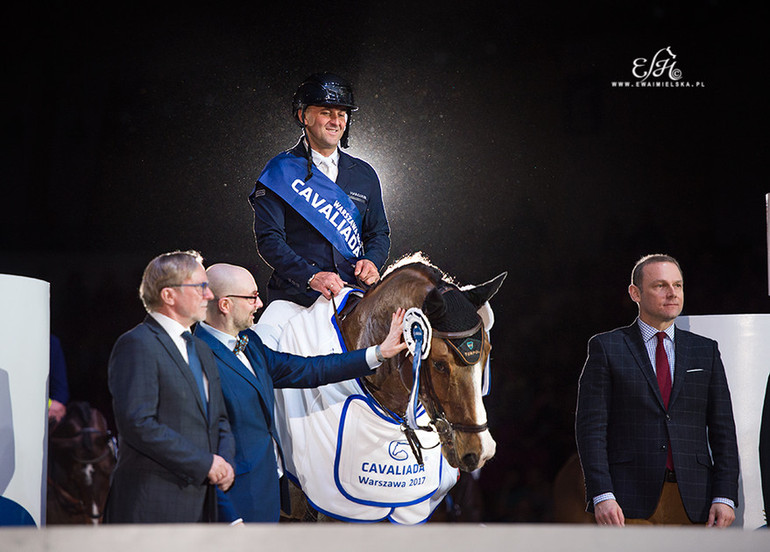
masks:
[[[200,340],[196,349],[209,382],[208,419],[189,366],[152,317],[115,343],[108,382],[119,454],[106,522],[215,520],[207,476],[214,453],[233,463],[235,440],[214,355]]]

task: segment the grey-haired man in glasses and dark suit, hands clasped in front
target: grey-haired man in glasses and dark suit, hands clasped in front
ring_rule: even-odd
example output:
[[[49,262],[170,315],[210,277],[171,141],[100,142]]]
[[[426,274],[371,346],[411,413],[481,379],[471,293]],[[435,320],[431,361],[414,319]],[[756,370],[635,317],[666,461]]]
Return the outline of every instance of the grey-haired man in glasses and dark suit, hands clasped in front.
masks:
[[[107,523],[216,521],[235,477],[235,440],[211,349],[190,334],[213,298],[197,252],[153,259],[144,322],[120,336],[108,383],[119,434]]]

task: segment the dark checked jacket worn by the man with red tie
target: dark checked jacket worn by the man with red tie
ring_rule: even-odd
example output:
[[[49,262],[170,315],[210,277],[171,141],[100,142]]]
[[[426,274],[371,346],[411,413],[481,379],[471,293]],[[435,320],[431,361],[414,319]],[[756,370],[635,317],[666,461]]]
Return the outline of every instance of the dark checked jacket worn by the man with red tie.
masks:
[[[589,510],[593,497],[613,492],[625,517],[651,516],[669,442],[691,521],[708,519],[714,497],[738,503],[735,423],[717,343],[676,328],[674,346],[666,410],[638,324],[589,341],[576,416]]]

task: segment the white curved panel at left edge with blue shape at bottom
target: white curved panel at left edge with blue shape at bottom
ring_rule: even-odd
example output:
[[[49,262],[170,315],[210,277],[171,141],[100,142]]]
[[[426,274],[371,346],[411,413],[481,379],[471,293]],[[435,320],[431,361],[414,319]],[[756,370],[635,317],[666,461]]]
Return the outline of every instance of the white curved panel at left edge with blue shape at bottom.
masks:
[[[0,274],[0,525],[45,523],[48,282]]]

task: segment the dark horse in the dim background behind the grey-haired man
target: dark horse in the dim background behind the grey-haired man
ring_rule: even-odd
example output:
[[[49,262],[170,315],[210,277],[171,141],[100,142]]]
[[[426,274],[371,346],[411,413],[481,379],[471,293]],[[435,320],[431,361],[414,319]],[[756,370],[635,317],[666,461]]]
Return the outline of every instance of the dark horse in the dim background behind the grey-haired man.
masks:
[[[99,524],[117,462],[104,415],[87,402],[72,402],[50,428],[48,443],[46,523]]]

